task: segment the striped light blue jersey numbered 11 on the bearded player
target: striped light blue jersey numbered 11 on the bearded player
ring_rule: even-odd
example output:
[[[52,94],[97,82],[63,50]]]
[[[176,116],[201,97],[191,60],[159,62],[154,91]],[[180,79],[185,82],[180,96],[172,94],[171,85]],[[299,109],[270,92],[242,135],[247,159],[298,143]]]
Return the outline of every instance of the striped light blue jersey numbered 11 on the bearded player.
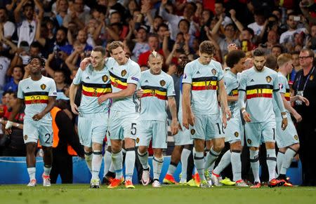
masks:
[[[277,72],[264,67],[262,72],[254,67],[240,74],[239,91],[246,91],[246,111],[251,123],[275,120],[272,93],[279,90]]]

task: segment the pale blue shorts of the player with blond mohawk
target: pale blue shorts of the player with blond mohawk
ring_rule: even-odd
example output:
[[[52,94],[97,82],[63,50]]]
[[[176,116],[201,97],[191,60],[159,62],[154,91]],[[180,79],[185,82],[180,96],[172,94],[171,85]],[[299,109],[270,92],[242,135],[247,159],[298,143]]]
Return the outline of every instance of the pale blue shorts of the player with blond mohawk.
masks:
[[[138,125],[139,141],[136,139],[137,146],[148,147],[152,140],[152,148],[167,148],[167,123],[166,121],[140,121]]]

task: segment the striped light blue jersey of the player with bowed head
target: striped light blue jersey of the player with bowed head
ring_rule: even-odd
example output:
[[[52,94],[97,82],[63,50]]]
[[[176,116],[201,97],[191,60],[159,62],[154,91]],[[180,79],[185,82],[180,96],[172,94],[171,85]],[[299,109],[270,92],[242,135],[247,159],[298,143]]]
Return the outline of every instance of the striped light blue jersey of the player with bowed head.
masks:
[[[218,81],[223,77],[220,63],[214,60],[209,64],[201,64],[197,59],[185,65],[183,83],[192,85],[193,114],[219,114],[217,90]]]

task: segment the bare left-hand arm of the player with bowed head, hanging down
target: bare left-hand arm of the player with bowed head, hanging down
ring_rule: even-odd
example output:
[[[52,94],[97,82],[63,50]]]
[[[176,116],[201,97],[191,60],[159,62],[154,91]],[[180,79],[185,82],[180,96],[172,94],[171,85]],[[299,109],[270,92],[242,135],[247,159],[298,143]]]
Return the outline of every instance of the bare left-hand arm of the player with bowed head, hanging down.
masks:
[[[183,83],[183,98],[182,98],[182,111],[183,111],[183,126],[189,129],[189,124],[194,125],[195,119],[192,114],[191,104],[190,104],[190,92],[191,84]]]

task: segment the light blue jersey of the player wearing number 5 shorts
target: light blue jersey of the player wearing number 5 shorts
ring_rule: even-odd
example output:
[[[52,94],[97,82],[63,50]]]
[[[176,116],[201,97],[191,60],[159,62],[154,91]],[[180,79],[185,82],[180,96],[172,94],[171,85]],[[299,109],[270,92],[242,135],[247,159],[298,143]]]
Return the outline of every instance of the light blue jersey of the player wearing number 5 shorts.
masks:
[[[110,72],[112,93],[117,93],[127,88],[128,83],[138,86],[140,81],[140,67],[133,60],[129,59],[126,64],[119,65],[113,57],[107,58],[105,66]],[[140,103],[136,94],[131,97],[114,99],[111,105],[112,110],[126,111],[127,113],[139,112]]]

